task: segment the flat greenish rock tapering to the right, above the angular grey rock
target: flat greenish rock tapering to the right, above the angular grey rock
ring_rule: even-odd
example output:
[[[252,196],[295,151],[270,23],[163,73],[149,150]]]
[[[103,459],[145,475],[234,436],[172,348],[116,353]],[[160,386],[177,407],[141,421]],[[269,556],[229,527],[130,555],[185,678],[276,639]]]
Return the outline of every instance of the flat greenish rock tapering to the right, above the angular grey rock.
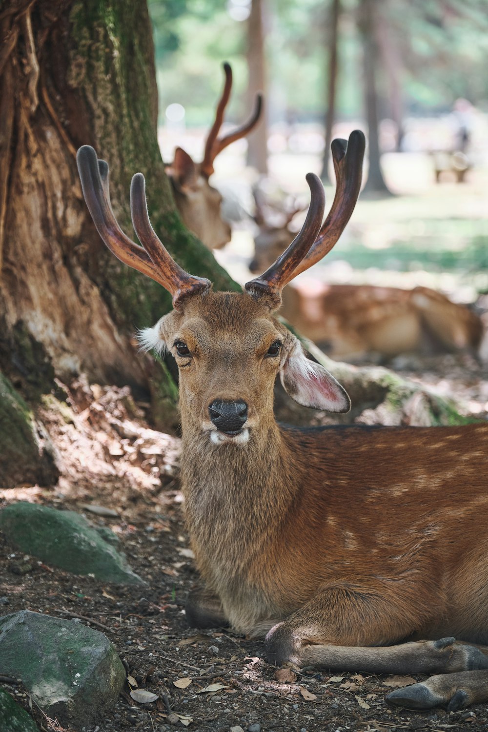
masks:
[[[20,551],[75,575],[143,584],[124,557],[84,516],[24,501],[0,512],[0,529]]]

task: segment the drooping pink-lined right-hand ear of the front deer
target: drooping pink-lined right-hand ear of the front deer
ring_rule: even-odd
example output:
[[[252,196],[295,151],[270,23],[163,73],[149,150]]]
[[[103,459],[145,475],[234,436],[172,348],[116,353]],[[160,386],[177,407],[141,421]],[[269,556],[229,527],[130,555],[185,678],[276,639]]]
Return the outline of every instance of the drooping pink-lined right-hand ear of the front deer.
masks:
[[[342,413],[350,410],[350,398],[339,381],[307,359],[298,342],[282,364],[279,378],[288,395],[304,407]]]

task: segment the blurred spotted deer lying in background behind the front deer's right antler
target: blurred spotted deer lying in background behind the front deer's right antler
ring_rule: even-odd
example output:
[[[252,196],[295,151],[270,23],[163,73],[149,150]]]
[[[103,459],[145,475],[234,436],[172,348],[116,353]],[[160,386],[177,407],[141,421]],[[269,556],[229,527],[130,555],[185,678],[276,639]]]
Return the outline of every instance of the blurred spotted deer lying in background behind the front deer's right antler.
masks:
[[[255,200],[260,231],[249,269],[263,272],[295,236],[289,225],[300,209],[293,209],[282,226],[272,226],[257,193]],[[476,353],[483,335],[478,315],[427,287],[402,290],[301,279],[283,292],[280,315],[334,358]]]

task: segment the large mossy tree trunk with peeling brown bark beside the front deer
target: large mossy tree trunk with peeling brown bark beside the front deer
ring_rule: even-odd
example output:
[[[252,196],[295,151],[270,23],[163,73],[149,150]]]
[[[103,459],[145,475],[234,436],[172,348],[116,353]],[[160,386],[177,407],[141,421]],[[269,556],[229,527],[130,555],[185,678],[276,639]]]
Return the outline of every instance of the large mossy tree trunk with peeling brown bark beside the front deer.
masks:
[[[157,145],[146,1],[13,0],[0,10],[0,31],[0,368],[20,387],[47,375],[37,373],[39,359],[61,378],[85,372],[143,392],[151,383],[173,403],[171,423],[174,384],[132,338],[168,312],[170,296],[106,250],[75,164],[86,143],[108,160],[113,209],[132,237],[129,182],[143,171],[170,253],[217,289],[236,286],[173,203]],[[41,356],[29,361],[33,348]],[[51,389],[52,376],[37,392]]]

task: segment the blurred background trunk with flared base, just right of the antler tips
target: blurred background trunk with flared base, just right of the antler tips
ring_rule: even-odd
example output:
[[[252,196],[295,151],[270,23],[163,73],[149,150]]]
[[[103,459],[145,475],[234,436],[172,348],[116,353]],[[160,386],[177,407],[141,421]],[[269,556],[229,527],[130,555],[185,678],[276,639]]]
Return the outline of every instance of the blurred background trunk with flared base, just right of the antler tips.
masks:
[[[380,167],[380,140],[378,130],[378,45],[375,34],[375,17],[378,0],[361,0],[359,29],[364,53],[364,102],[368,125],[369,172],[364,192],[390,194]]]

